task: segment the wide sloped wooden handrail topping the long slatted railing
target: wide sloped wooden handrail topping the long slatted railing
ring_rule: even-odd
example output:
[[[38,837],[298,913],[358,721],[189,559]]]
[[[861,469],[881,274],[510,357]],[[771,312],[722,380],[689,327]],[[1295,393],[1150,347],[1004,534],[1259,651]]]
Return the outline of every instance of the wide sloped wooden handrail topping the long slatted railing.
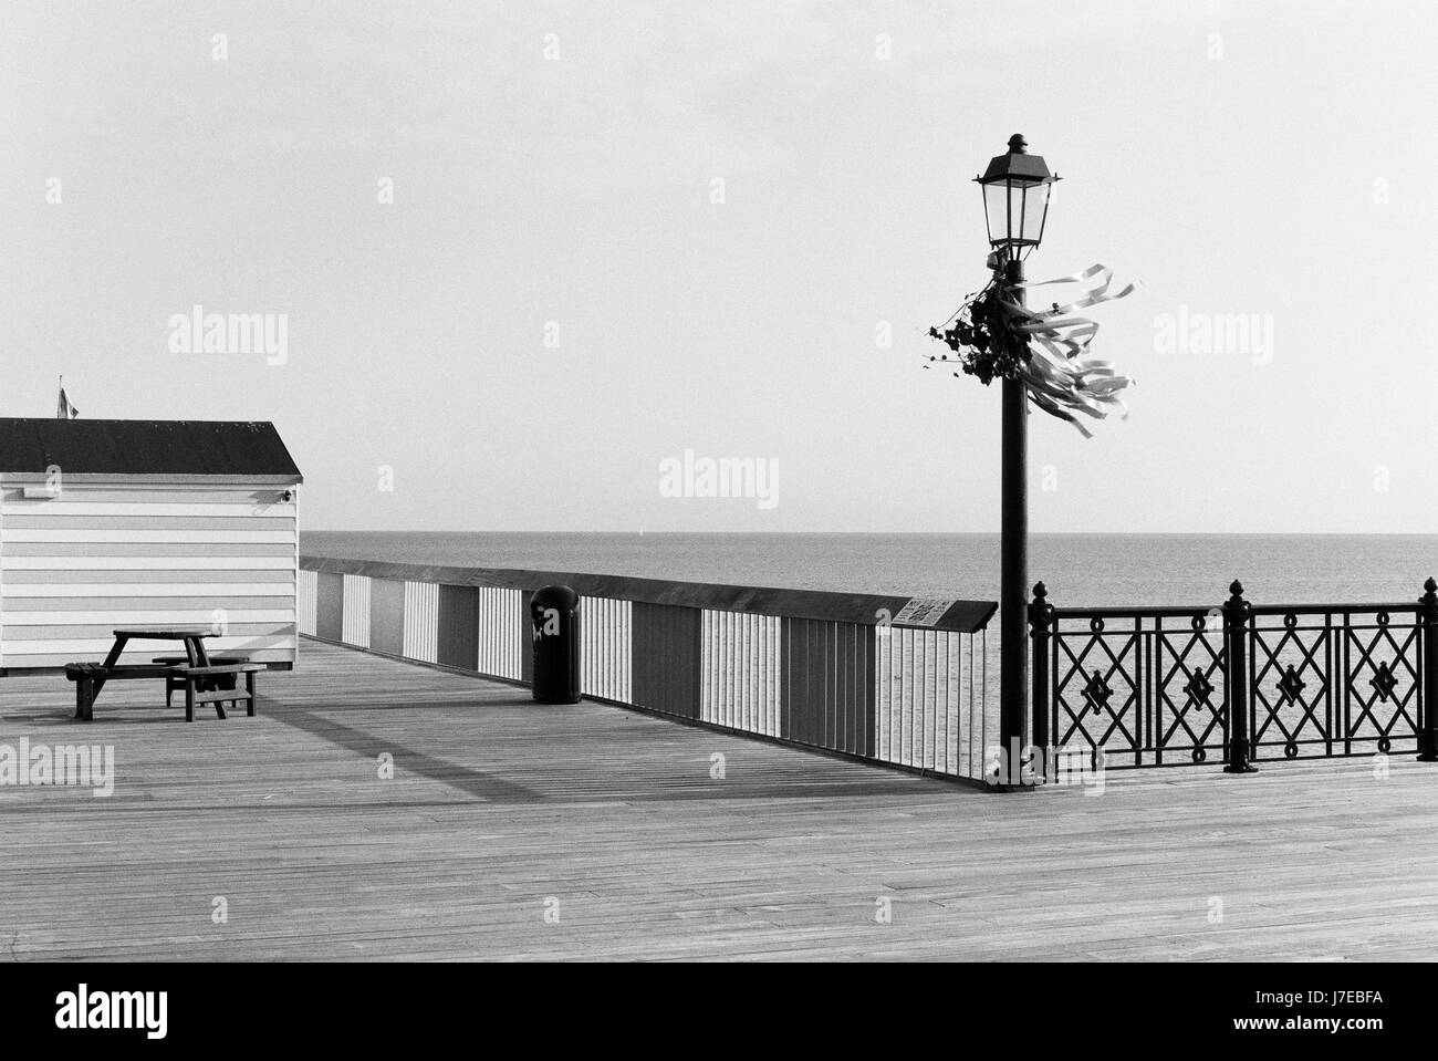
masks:
[[[559,571],[525,571],[515,568],[464,568],[431,564],[394,564],[388,561],[357,561],[336,556],[299,558],[302,571],[332,575],[365,575],[368,578],[439,585],[490,587],[535,591],[546,585],[567,585],[585,597],[634,601],[640,604],[669,604],[686,608],[713,608],[782,618],[853,623],[864,627],[897,625],[919,630],[943,630],[974,634],[988,625],[998,610],[995,601],[952,600],[933,623],[909,624],[894,621],[909,604],[909,597],[883,594],[844,594],[824,589],[784,589],[756,585],[722,585],[715,582],[676,582],[628,575],[594,575]],[[935,597],[925,594],[923,600]],[[948,598],[945,598],[948,600]],[[889,620],[884,621],[887,614]]]

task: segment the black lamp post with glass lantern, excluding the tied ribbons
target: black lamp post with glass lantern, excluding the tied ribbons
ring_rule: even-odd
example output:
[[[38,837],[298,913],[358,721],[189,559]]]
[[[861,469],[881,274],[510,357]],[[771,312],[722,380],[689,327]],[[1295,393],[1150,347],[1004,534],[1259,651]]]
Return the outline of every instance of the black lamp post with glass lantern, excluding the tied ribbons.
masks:
[[[988,224],[989,265],[1002,270],[1005,285],[1021,283],[1024,259],[1044,239],[1048,198],[1058,177],[1044,160],[1028,154],[1024,137],[1008,139],[1008,154],[994,158],[982,177],[984,219]],[[1009,292],[1024,305],[1022,288]],[[1001,786],[1017,786],[1028,713],[1028,388],[1022,380],[1004,380],[1002,408],[1002,543],[999,558],[999,745],[1008,776]],[[1045,707],[1047,710],[1047,707]],[[1041,749],[1047,753],[1048,749]]]

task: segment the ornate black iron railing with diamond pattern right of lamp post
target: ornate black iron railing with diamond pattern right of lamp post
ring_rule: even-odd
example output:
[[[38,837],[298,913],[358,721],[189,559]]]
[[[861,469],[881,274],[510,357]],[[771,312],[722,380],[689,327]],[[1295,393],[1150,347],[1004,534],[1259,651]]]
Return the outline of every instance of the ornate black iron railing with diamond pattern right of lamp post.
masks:
[[[1030,605],[1032,743],[1104,768],[1438,761],[1438,584],[1412,604]],[[1055,756],[1051,756],[1055,758]]]

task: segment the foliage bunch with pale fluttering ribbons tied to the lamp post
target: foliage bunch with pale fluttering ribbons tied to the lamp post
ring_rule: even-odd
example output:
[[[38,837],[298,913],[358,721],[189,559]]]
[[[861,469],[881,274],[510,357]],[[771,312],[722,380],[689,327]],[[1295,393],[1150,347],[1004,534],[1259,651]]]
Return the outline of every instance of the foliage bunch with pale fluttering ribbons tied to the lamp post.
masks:
[[[1084,438],[1093,433],[1078,420],[1080,415],[1103,420],[1110,413],[1119,418],[1129,414],[1119,394],[1133,385],[1133,380],[1120,375],[1112,361],[1094,357],[1089,349],[1099,334],[1099,323],[1078,311],[1097,306],[1100,302],[1114,302],[1137,290],[1137,282],[1116,286],[1113,270],[1099,263],[1083,272],[1058,276],[1053,280],[1020,282],[1012,288],[1048,288],[1058,283],[1077,283],[1083,295],[1073,302],[1051,303],[1050,309],[1035,311],[1018,305],[995,280],[963,309],[949,318],[961,318],[952,329],[929,334],[942,339],[959,352],[959,364],[965,372],[978,375],[986,385],[994,375],[1020,378],[1027,385],[1028,398],[1053,417],[1067,420]],[[969,311],[969,321],[962,319]],[[995,332],[1009,332],[1009,336],[1027,339],[1027,355],[1011,352],[1012,339]],[[943,358],[929,358],[929,361]],[[958,375],[958,372],[955,372]]]

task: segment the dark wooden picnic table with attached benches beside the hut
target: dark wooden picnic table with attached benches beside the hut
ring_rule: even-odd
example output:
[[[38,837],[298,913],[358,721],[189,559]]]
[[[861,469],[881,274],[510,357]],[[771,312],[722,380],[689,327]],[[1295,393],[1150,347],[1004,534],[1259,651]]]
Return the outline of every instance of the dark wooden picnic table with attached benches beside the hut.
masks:
[[[86,722],[95,717],[95,697],[106,681],[132,679],[164,679],[165,706],[177,692],[186,694],[186,722],[194,722],[194,707],[213,703],[214,712],[224,716],[224,702],[239,706],[249,703],[255,715],[255,674],[266,670],[263,663],[250,663],[247,656],[217,656],[211,658],[204,650],[204,638],[214,637],[210,630],[116,630],[115,644],[104,663],[69,663],[65,677],[75,683],[75,717]],[[131,640],[183,641],[184,656],[157,656],[151,663],[121,663],[119,657]],[[239,676],[244,676],[244,690],[237,689]]]

